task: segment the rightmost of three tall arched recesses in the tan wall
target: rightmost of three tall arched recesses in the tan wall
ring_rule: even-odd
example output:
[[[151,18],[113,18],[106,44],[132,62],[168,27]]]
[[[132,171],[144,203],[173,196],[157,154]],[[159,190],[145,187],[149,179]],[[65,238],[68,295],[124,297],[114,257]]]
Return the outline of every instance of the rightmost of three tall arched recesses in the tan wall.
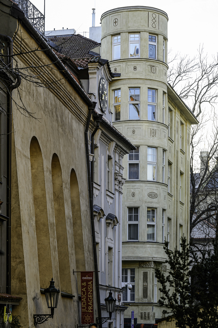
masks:
[[[80,209],[80,192],[77,181],[76,172],[74,169],[70,173],[70,195],[71,195],[71,207],[73,218],[73,236],[74,236],[74,249],[76,257],[76,270],[85,271],[85,255],[84,244],[82,234],[82,217]],[[80,293],[80,273],[77,273],[78,293]]]

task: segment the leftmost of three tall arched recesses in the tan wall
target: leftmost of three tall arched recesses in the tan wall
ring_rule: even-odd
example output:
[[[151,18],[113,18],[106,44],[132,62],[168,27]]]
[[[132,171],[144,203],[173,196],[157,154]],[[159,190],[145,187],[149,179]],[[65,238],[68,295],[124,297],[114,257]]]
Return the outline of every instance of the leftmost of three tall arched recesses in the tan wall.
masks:
[[[49,281],[53,277],[53,274],[45,194],[43,157],[39,142],[36,137],[32,137],[29,150],[39,262],[39,279],[40,287],[46,288],[49,284]]]

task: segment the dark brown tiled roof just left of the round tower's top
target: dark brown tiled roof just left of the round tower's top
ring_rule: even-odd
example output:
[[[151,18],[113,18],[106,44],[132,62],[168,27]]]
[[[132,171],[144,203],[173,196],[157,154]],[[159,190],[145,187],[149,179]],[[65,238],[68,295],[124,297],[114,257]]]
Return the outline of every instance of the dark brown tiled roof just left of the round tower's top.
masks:
[[[100,43],[80,34],[47,37],[61,48],[60,52],[64,53],[71,59],[90,57],[89,50],[100,45]]]

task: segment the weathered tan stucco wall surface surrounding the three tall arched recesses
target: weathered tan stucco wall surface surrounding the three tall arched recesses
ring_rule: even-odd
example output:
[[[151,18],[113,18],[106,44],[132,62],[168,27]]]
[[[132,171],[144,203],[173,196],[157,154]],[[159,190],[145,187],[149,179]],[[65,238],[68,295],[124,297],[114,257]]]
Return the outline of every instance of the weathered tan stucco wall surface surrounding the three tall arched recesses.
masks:
[[[14,42],[16,47],[22,43],[23,50],[37,48],[38,45],[19,28]],[[22,62],[21,62],[22,59]],[[33,62],[34,65],[49,65],[41,72],[42,80],[58,80],[58,87],[52,90],[44,87],[35,87],[22,79],[19,88],[21,99],[33,117],[24,115],[17,110],[13,102],[13,148],[12,148],[12,217],[11,217],[11,242],[12,242],[12,294],[23,297],[16,314],[21,316],[24,327],[33,325],[33,314],[49,313],[45,295],[40,293],[40,287],[48,287],[51,277],[47,277],[47,286],[40,286],[39,265],[37,254],[37,239],[34,214],[34,200],[32,189],[32,175],[30,166],[30,141],[35,136],[39,142],[44,165],[45,192],[47,206],[47,220],[49,227],[52,273],[55,286],[60,287],[58,252],[56,240],[56,226],[53,187],[51,174],[51,161],[53,154],[57,154],[63,181],[63,199],[67,235],[69,265],[70,265],[70,290],[75,295],[73,298],[59,296],[58,308],[54,311],[54,318],[49,319],[49,326],[74,326],[80,324],[79,298],[80,290],[77,287],[76,258],[74,252],[74,234],[81,235],[80,242],[84,248],[85,265],[83,270],[94,270],[93,250],[91,237],[90,210],[88,201],[88,186],[86,174],[86,157],[84,128],[88,114],[87,104],[78,93],[63,79],[60,72],[44,52],[34,52],[18,58],[18,65],[25,66]],[[51,66],[50,66],[51,65]],[[52,68],[52,70],[50,70]],[[50,74],[50,72],[52,74]],[[13,99],[21,104],[16,90]],[[72,221],[70,173],[74,169],[78,180],[79,201],[82,217],[82,231],[75,231]],[[61,196],[60,196],[61,197]],[[43,230],[43,225],[41,227]],[[82,240],[83,239],[83,240]],[[18,245],[18,247],[16,247]],[[46,275],[46,273],[45,273]],[[65,291],[65,290],[64,290]],[[96,293],[94,287],[94,312],[96,317]]]

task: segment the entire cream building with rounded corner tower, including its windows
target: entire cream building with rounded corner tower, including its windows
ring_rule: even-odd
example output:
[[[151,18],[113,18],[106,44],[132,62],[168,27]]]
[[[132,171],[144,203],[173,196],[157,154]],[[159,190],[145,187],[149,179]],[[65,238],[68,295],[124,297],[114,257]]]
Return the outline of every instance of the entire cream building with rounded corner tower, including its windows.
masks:
[[[123,159],[124,328],[131,311],[138,327],[162,317],[155,268],[167,274],[164,239],[172,250],[183,234],[189,239],[190,128],[198,121],[167,83],[167,22],[164,11],[142,6],[101,16],[101,57],[120,73],[110,83],[113,124],[136,146]]]

